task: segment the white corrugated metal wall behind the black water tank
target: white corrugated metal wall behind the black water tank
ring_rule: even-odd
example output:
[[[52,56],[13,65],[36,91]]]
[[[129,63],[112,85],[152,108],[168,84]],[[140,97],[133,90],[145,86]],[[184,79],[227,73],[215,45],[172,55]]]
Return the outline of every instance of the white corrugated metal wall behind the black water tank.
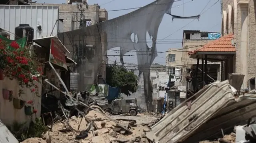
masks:
[[[58,19],[58,6],[0,6],[0,28],[10,31],[10,39],[14,39],[15,27],[19,24],[33,27],[34,39],[50,36],[51,32],[57,35]],[[37,30],[37,24],[42,26],[42,31]]]

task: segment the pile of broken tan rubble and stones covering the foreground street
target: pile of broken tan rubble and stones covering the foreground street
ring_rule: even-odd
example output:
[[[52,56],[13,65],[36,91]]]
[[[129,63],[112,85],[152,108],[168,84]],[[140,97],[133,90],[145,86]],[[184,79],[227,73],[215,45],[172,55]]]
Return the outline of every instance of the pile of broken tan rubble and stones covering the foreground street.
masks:
[[[136,120],[132,119],[112,121],[94,110],[85,117],[88,121],[82,116],[58,121],[51,131],[45,133],[43,139],[31,138],[22,143],[150,143],[145,133],[160,120],[159,118],[154,123],[142,125],[136,124]]]

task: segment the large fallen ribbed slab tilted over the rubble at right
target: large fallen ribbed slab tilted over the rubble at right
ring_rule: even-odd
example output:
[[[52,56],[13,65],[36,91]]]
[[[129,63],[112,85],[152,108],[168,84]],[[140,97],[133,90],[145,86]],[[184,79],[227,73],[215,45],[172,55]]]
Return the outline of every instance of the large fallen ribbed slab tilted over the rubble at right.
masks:
[[[146,133],[148,139],[160,143],[207,140],[221,135],[220,129],[226,131],[236,123],[256,116],[256,100],[243,98],[256,95],[248,93],[235,100],[237,90],[228,80],[209,84],[202,91],[194,95],[198,97],[192,101],[190,110],[185,101],[166,114],[151,128],[152,131]]]

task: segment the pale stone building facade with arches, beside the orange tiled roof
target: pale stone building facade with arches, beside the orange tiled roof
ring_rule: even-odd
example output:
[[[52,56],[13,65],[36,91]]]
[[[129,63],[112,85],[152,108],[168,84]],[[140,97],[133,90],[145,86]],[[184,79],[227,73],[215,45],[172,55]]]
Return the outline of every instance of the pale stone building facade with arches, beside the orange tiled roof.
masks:
[[[222,35],[234,33],[236,73],[245,75],[242,89],[256,74],[255,6],[255,0],[222,0]]]

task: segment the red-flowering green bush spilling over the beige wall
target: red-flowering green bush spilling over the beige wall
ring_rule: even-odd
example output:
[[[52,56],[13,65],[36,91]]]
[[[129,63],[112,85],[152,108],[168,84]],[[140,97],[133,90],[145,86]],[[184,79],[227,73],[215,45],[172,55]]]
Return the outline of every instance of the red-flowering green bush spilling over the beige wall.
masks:
[[[36,82],[41,76],[41,69],[25,44],[26,38],[13,41],[0,36],[0,80],[4,77],[16,79],[21,87],[19,96],[24,94],[24,87],[33,88],[31,92],[38,96]]]

